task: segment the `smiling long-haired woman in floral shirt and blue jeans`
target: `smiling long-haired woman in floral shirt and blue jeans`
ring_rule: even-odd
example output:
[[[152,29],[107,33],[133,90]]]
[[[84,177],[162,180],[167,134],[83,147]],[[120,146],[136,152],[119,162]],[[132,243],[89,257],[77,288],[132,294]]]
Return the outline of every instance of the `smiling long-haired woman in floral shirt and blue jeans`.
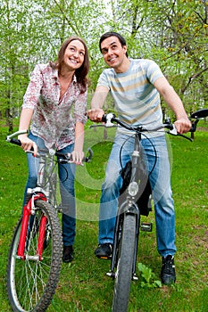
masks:
[[[56,62],[38,64],[32,72],[23,98],[19,135],[24,151],[33,147],[72,152],[71,164],[59,164],[62,196],[63,262],[73,259],[75,238],[74,174],[83,159],[84,124],[87,120],[87,45],[80,37],[69,37],[60,48]],[[29,127],[30,125],[30,127]],[[38,159],[27,154],[29,177],[25,193],[37,183]]]

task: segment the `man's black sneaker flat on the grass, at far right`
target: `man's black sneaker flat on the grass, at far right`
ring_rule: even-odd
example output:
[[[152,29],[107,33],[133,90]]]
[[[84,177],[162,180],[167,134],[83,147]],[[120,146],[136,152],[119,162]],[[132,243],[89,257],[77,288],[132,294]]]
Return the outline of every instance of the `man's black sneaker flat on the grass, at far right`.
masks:
[[[171,255],[162,257],[161,280],[165,285],[171,285],[176,281],[174,257]]]

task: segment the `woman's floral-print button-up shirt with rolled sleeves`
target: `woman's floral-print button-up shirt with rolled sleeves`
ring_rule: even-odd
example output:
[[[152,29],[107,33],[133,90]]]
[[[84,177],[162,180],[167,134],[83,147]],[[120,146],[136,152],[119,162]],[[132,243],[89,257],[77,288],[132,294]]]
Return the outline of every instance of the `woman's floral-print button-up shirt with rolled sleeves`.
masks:
[[[71,85],[60,99],[58,70],[38,64],[31,74],[22,108],[34,110],[30,130],[44,139],[46,147],[61,150],[74,143],[75,125],[87,121],[87,91],[80,94],[74,75]]]

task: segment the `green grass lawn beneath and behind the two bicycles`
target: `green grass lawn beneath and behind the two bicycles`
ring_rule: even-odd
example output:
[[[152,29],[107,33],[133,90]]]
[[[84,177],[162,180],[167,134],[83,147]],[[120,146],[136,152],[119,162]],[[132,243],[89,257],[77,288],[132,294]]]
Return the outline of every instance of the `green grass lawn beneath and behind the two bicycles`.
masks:
[[[62,264],[60,282],[50,312],[111,311],[113,281],[105,275],[110,262],[96,259],[98,209],[104,167],[111,150],[114,130],[103,140],[103,130],[87,130],[86,149],[92,147],[94,159],[77,170],[76,258]],[[27,178],[24,152],[6,144],[6,128],[0,134],[0,310],[11,311],[5,289],[6,258],[12,229],[21,214],[21,201]],[[132,282],[129,311],[208,311],[208,132],[203,128],[190,143],[169,137],[172,149],[172,190],[176,209],[177,283],[172,287],[141,288],[142,277]],[[154,213],[148,218],[154,223]],[[144,217],[144,220],[147,220]],[[159,279],[161,258],[156,250],[155,226],[152,233],[140,235],[138,262],[150,267]]]

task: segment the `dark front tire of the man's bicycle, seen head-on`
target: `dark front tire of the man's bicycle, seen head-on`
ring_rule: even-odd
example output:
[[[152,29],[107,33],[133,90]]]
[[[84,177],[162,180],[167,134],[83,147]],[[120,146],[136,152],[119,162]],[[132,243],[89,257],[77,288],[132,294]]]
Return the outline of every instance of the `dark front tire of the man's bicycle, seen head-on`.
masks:
[[[125,214],[123,217],[117,270],[115,272],[112,312],[126,312],[128,310],[135,241],[136,215]]]

